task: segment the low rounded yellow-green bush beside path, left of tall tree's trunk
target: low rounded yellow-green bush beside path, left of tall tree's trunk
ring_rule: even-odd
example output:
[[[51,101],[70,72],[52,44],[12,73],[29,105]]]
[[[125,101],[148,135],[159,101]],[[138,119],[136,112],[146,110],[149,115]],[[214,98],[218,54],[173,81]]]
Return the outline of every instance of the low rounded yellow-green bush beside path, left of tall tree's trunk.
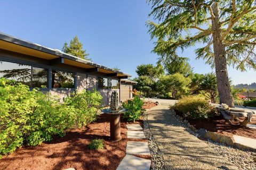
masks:
[[[179,100],[173,109],[183,113],[184,117],[191,119],[204,119],[213,117],[215,111],[212,110],[208,101],[202,97],[189,96]]]

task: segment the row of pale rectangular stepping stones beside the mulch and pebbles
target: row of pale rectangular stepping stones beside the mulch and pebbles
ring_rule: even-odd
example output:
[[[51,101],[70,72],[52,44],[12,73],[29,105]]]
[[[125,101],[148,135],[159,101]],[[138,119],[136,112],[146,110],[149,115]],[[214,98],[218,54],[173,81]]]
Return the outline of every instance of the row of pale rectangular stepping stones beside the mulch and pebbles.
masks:
[[[139,124],[127,124],[128,139],[146,139]],[[127,142],[126,155],[117,167],[117,170],[149,170],[151,160],[135,157],[133,155],[150,155],[147,142]]]

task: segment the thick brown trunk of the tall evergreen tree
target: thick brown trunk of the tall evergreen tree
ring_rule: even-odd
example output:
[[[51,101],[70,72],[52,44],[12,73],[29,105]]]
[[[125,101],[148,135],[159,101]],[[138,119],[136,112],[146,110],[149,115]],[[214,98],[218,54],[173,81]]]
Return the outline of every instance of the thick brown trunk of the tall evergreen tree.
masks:
[[[218,3],[212,5],[212,31],[213,31],[213,51],[215,61],[215,72],[217,77],[217,87],[219,92],[220,104],[227,104],[234,107],[234,99],[231,94],[230,84],[228,80],[227,58],[225,46],[221,41],[221,24],[219,23]]]

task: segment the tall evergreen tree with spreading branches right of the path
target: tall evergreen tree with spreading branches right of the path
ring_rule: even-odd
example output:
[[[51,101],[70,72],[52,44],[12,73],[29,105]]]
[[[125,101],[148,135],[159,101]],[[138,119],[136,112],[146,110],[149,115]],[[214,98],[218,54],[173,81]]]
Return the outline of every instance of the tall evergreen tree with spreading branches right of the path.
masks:
[[[256,70],[255,0],[148,0],[158,23],[148,22],[154,52],[161,60],[173,60],[177,49],[203,43],[198,58],[215,66],[220,103],[234,107],[227,64]]]

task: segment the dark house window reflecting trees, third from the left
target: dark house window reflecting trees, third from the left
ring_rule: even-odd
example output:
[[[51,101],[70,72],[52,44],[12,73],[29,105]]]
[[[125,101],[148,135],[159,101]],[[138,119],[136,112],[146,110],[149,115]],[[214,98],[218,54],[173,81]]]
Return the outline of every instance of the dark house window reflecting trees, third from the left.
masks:
[[[75,88],[75,74],[52,70],[52,88]]]

